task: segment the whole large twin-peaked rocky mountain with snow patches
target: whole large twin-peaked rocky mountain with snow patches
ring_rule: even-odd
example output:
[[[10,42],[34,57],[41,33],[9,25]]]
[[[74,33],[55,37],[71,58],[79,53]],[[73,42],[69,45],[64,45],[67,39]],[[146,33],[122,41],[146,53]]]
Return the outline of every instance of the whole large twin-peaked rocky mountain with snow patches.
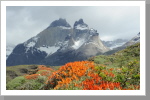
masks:
[[[83,19],[69,23],[60,18],[46,29],[18,44],[8,57],[7,66],[23,64],[62,65],[71,61],[86,60],[109,49],[99,39],[99,33],[89,28]]]

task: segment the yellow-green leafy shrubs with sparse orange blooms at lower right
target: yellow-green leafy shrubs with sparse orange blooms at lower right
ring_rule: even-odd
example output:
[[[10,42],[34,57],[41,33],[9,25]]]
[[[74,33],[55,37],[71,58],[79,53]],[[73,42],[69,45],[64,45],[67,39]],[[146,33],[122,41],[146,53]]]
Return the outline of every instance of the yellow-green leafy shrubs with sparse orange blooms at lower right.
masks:
[[[119,82],[122,89],[140,89],[140,69],[139,62],[134,60],[121,68],[109,68],[103,65],[95,67],[98,75],[103,81]]]

